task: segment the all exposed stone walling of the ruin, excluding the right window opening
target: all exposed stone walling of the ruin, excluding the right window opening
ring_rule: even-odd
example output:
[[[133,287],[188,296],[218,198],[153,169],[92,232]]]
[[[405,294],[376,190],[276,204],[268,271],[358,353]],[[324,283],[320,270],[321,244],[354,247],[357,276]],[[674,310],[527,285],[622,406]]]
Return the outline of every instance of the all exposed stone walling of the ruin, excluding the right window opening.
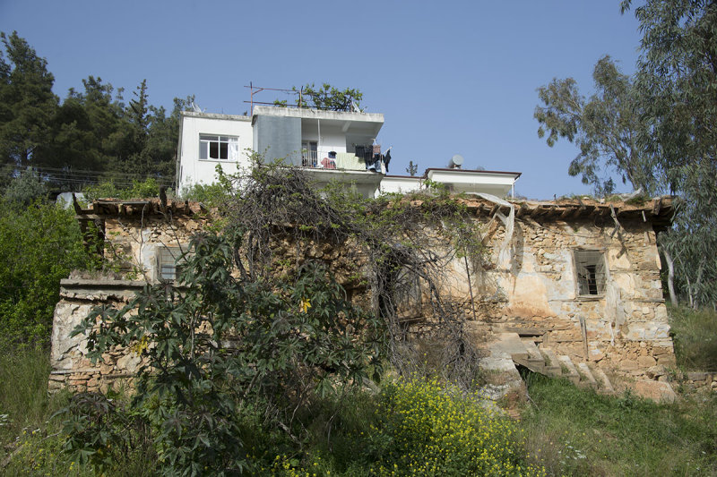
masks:
[[[655,242],[654,226],[669,223],[665,217],[671,209],[662,200],[614,207],[586,205],[581,200],[514,201],[507,207],[484,200],[466,202],[481,224],[487,252],[472,260],[468,268],[458,257],[447,263],[441,293],[463,306],[469,319],[468,331],[478,347],[489,341],[491,334],[510,331],[626,379],[666,379],[675,356]],[[144,280],[157,280],[160,249],[186,247],[191,236],[207,225],[208,218],[200,209],[188,203],[105,202],[78,215],[81,220],[96,222],[101,218],[106,256],[117,258],[123,275],[119,280],[63,282],[53,330],[50,388],[98,389],[114,379],[131,377],[138,356],[115,350],[108,353],[106,363],[92,367],[82,336],[71,339],[69,332],[92,306],[122,304]],[[514,217],[514,226],[508,226],[510,220],[504,221],[501,214]],[[274,243],[272,247],[286,256],[287,267],[307,257],[323,260],[331,265],[354,302],[370,303],[366,280],[357,279],[365,275],[359,247],[309,243],[302,256],[296,256],[296,248],[290,243]],[[601,253],[606,278],[600,294],[578,293],[575,250]],[[281,273],[281,263],[277,272]],[[418,329],[421,319],[436,318],[428,316],[428,309],[417,303],[401,311],[403,318],[410,319]]]

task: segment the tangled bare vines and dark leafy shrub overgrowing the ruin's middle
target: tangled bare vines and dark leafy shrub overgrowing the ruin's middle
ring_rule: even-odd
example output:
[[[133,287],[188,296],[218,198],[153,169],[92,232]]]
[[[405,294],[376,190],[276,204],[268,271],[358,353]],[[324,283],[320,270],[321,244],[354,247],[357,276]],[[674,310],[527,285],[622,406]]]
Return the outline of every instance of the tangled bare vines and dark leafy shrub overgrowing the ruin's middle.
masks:
[[[411,308],[427,317],[424,339],[441,344],[437,372],[471,386],[466,303],[446,298],[444,279],[451,260],[469,271],[481,258],[459,199],[318,191],[305,172],[279,164],[221,180],[221,228],[194,237],[177,283],[97,308],[73,332],[87,334],[95,362],[117,347],[142,358],[129,407],[88,395],[65,411],[73,456],[101,471],[113,436],[133,434],[92,426],[130,422],[149,433],[167,474],[252,470],[242,410],[263,409],[263,426],[300,444],[309,425],[300,416],[317,399],[378,380],[385,358],[401,373],[419,370],[425,348],[407,339],[402,320]],[[99,418],[83,417],[77,406],[87,403],[99,403]]]

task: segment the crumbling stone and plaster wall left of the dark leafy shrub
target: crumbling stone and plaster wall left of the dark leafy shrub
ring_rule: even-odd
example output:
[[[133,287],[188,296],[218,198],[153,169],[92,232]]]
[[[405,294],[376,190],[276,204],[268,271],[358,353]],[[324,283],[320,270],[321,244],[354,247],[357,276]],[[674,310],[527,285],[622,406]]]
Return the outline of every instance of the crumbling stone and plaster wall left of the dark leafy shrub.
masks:
[[[162,217],[142,214],[105,217],[105,256],[119,267],[111,277],[72,276],[60,285],[55,307],[49,378],[51,391],[106,390],[118,379],[131,382],[141,362],[132,350],[113,349],[103,362],[93,365],[87,357],[87,339],[71,333],[98,305],[121,308],[132,300],[146,281],[156,281],[157,254],[161,247],[186,250],[192,235],[207,225],[206,217]],[[145,281],[146,280],[146,281]]]

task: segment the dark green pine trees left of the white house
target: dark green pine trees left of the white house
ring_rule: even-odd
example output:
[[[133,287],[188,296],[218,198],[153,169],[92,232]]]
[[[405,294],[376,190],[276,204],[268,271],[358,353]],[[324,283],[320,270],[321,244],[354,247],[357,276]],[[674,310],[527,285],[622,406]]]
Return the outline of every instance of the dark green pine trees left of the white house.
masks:
[[[125,105],[123,89],[101,78],[82,80],[60,104],[47,61],[17,32],[2,34],[0,51],[0,187],[17,168],[39,167],[48,182],[75,188],[98,177],[129,183],[153,176],[172,183],[179,113],[193,98],[175,98],[170,115],[151,106],[144,80]],[[7,59],[5,59],[5,55]]]

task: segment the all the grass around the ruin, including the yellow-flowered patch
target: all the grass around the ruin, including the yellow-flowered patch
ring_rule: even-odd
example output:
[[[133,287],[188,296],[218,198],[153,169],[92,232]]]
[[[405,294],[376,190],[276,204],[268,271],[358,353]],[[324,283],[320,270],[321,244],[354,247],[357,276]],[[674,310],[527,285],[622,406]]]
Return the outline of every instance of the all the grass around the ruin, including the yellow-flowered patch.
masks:
[[[670,320],[680,368],[715,369],[717,314],[671,308]],[[46,350],[0,353],[0,475],[94,474],[62,452],[61,422],[51,416],[68,396],[48,396],[49,371]],[[435,465],[445,475],[470,475],[474,458],[551,475],[717,475],[715,393],[657,405],[630,394],[600,396],[536,374],[526,380],[531,402],[519,423],[482,421],[488,414],[470,398],[436,382],[413,388],[384,383],[378,397],[353,392],[307,407],[301,421],[310,425],[293,431],[300,446],[282,430],[267,430],[259,407],[241,418],[242,439],[257,475],[427,474],[420,467],[428,464],[428,473]],[[503,439],[509,433],[514,438]],[[479,457],[479,439],[499,452]],[[136,449],[108,474],[152,475],[157,465],[151,452]]]

